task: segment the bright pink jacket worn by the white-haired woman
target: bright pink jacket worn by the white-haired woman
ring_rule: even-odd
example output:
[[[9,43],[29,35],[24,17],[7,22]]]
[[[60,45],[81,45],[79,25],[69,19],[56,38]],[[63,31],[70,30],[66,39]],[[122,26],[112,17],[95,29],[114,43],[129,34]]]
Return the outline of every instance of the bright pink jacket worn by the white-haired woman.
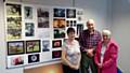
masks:
[[[98,65],[101,61],[101,48],[102,48],[102,42],[98,44],[94,61]],[[110,40],[109,43],[106,46],[106,50],[104,54],[103,59],[103,68],[98,68],[98,73],[117,73],[117,53],[118,53],[118,45]]]

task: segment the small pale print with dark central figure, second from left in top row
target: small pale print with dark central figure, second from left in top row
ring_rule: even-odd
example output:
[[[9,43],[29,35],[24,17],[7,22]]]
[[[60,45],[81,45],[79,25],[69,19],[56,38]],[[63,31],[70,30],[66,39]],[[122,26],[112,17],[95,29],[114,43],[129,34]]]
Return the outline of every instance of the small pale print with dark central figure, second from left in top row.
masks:
[[[32,19],[32,8],[31,6],[24,6],[24,16],[25,16],[25,19]]]

